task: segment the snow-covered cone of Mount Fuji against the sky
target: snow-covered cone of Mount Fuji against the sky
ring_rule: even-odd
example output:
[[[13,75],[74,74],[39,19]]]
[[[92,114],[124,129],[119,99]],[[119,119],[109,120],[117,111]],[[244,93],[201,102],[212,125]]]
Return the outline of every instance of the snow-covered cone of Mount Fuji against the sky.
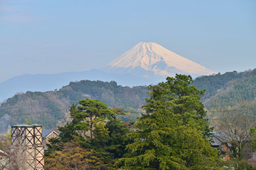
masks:
[[[107,71],[132,73],[137,76],[191,76],[209,75],[216,72],[162,47],[154,42],[141,42],[107,65]]]

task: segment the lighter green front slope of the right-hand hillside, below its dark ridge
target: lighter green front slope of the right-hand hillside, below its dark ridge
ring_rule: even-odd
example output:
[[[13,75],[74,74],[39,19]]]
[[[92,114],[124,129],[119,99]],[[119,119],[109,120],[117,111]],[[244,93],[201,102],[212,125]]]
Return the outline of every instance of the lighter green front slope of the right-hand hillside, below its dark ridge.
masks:
[[[239,74],[240,78],[226,82],[213,96],[205,99],[209,119],[222,119],[227,111],[239,111],[248,117],[256,117],[256,69]],[[214,82],[212,84],[214,86]],[[216,122],[212,121],[212,125],[214,124]]]

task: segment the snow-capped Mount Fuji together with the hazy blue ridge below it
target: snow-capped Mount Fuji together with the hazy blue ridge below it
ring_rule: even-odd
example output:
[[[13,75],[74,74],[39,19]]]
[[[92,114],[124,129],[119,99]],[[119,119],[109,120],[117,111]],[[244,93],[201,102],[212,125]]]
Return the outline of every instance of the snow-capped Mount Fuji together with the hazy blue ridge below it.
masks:
[[[191,74],[195,78],[216,72],[189,61],[157,43],[141,42],[106,65],[106,69],[15,76],[0,83],[0,103],[16,93],[46,92],[79,80],[114,80],[119,85],[132,87],[156,84],[165,80],[166,76],[175,76],[176,73]]]

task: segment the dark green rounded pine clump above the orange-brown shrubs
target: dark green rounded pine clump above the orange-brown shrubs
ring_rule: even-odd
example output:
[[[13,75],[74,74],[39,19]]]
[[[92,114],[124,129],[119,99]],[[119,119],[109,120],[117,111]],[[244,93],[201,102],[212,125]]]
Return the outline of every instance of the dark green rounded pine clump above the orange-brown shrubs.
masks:
[[[46,156],[54,161],[55,153],[62,151],[63,145],[75,141],[78,147],[93,150],[101,169],[112,169],[116,159],[125,154],[125,145],[129,143],[125,139],[128,125],[117,119],[123,112],[110,109],[97,99],[82,99],[78,105],[72,105],[70,112],[72,121],[59,127],[59,138],[51,140]]]

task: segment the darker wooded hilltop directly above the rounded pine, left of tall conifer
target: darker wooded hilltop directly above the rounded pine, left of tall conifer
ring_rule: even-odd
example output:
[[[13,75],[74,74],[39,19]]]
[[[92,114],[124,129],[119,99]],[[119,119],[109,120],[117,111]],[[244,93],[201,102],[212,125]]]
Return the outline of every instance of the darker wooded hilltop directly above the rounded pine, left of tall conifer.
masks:
[[[72,89],[72,93],[70,93]],[[90,98],[100,99],[110,107],[133,107],[138,108],[144,104],[146,86],[135,86],[133,88],[117,86],[117,83],[81,80],[80,82],[71,82],[69,86],[63,87],[58,94],[67,96],[71,101],[78,102],[84,95]]]

